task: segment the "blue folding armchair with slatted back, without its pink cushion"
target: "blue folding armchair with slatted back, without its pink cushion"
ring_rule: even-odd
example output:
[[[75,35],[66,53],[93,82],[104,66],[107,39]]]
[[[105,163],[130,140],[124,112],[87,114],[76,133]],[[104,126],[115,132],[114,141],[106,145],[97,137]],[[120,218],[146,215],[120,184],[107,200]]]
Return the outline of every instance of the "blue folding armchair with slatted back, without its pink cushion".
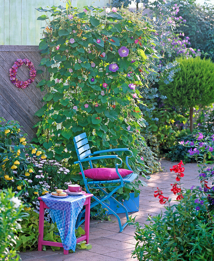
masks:
[[[96,157],[94,157],[94,155],[100,154],[100,153],[105,153],[105,152],[129,151],[131,153],[131,156],[126,156],[126,165],[127,165],[128,169],[132,171],[131,167],[128,164],[128,158],[131,158],[133,156],[132,151],[130,151],[127,148],[118,148],[118,149],[96,151],[94,153],[91,153],[90,146],[88,144],[88,139],[87,139],[87,136],[86,136],[85,132],[82,133],[82,134],[77,135],[76,137],[74,137],[74,145],[75,145],[76,153],[77,153],[77,156],[78,156],[78,161],[75,161],[74,163],[75,164],[79,164],[79,166],[80,166],[80,170],[81,170],[81,173],[82,173],[82,177],[83,177],[83,180],[84,180],[84,183],[85,183],[85,188],[86,188],[87,193],[91,193],[89,191],[89,189],[99,189],[99,190],[101,190],[104,193],[104,196],[102,196],[100,198],[97,198],[96,196],[93,196],[95,201],[91,204],[91,207],[94,207],[94,206],[96,206],[98,204],[101,204],[104,208],[106,208],[107,210],[111,211],[115,215],[115,217],[117,218],[118,223],[119,223],[119,227],[120,227],[120,232],[122,232],[124,227],[126,227],[126,225],[128,224],[128,222],[126,222],[122,226],[120,217],[112,209],[110,209],[110,207],[106,206],[104,201],[106,199],[109,199],[109,198],[111,198],[113,201],[115,201],[117,203],[117,205],[119,205],[119,207],[122,207],[125,210],[126,219],[128,221],[129,220],[129,216],[128,216],[128,211],[127,211],[126,207],[123,206],[120,202],[118,202],[114,197],[112,197],[112,195],[119,188],[122,188],[124,186],[124,183],[130,183],[130,182],[134,181],[136,179],[136,177],[138,176],[138,174],[131,173],[131,174],[125,176],[125,177],[122,177],[120,175],[120,173],[118,172],[118,166],[120,166],[122,164],[122,159],[119,158],[117,155],[104,155],[104,156],[96,156]],[[116,173],[117,173],[119,179],[104,180],[104,181],[100,181],[100,180],[88,181],[90,179],[86,179],[86,177],[85,177],[85,174],[84,174],[84,171],[83,171],[83,168],[82,168],[82,162],[88,161],[89,164],[90,164],[90,167],[92,169],[93,168],[93,165],[92,165],[92,161],[93,160],[109,159],[109,158],[111,158],[111,159],[119,159],[120,162],[121,162],[120,164],[118,164],[118,163],[115,164]],[[105,189],[104,189],[105,187],[103,187],[101,185],[101,184],[107,184],[107,183],[114,183],[115,184],[115,186],[111,186],[111,187],[115,187],[111,192],[106,192]],[[119,183],[119,185],[118,185],[118,183]],[[84,222],[84,220],[80,221],[81,217],[82,217],[82,214],[84,212],[85,211],[82,211],[80,213],[80,215],[78,217],[78,220],[76,222],[76,228],[78,228],[78,226],[82,222]]]

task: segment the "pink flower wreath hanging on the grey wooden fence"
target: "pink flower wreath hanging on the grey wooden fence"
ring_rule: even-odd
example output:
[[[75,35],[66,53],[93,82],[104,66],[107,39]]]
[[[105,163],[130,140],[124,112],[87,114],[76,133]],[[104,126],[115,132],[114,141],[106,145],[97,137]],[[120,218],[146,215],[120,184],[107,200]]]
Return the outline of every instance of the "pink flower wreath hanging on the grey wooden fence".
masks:
[[[21,67],[23,65],[23,63],[28,67],[28,69],[30,70],[29,75],[30,75],[30,79],[28,79],[27,81],[19,81],[16,78],[16,72],[18,70],[19,67]],[[36,77],[36,70],[35,67],[33,65],[33,63],[28,60],[28,59],[17,59],[16,62],[14,63],[14,65],[12,66],[12,68],[10,68],[10,81],[16,85],[17,88],[22,88],[25,89],[29,84],[31,84],[32,82],[34,82],[35,77]]]

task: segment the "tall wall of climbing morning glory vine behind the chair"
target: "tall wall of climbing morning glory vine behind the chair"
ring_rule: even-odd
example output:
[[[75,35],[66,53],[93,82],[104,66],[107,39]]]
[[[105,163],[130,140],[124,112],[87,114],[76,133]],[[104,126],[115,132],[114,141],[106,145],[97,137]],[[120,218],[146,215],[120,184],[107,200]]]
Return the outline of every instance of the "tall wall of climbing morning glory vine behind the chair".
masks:
[[[138,161],[138,151],[144,143],[140,129],[145,126],[145,120],[138,107],[141,100],[135,101],[132,94],[142,96],[128,84],[141,85],[139,69],[144,77],[149,63],[157,57],[150,46],[158,44],[151,35],[154,27],[150,19],[126,9],[100,15],[103,8],[85,8],[87,14],[69,4],[67,10],[52,7],[45,11],[54,20],[50,23],[46,20],[48,26],[39,49],[49,55],[41,60],[41,65],[47,67],[51,80],[38,84],[41,90],[48,90],[44,97],[47,104],[36,113],[41,117],[37,124],[38,141],[44,144],[49,157],[66,160],[76,174],[79,167],[73,165],[77,160],[73,137],[86,132],[92,152],[129,147],[134,155],[130,159],[134,171],[142,171],[144,165]],[[135,39],[138,44],[134,43]],[[119,55],[121,46],[129,49],[127,57]],[[145,55],[139,54],[139,50],[145,50]],[[109,70],[114,63],[119,67],[116,72]],[[127,77],[129,71],[132,73]],[[104,83],[107,88],[103,87]],[[118,155],[125,163],[126,153],[118,152]],[[94,164],[114,166],[103,160]],[[87,163],[84,167],[88,167]]]

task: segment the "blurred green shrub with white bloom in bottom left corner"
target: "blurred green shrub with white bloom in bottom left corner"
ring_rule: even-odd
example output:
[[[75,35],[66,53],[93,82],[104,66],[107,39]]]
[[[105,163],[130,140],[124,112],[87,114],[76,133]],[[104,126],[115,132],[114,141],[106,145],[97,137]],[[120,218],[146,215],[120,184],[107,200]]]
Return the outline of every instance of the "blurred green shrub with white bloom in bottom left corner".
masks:
[[[22,202],[15,197],[10,188],[0,191],[0,260],[19,261],[15,245],[18,241],[16,234],[20,229],[17,221],[25,218],[22,212]]]

